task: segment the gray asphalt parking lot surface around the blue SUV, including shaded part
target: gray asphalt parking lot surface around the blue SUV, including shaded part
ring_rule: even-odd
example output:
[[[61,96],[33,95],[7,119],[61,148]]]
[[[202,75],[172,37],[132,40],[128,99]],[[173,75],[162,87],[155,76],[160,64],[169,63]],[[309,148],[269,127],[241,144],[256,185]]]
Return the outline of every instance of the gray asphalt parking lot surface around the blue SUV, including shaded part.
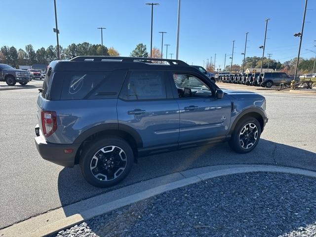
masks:
[[[262,163],[316,170],[316,95],[256,92],[267,99],[269,122],[250,154],[238,155],[227,144],[217,144],[139,158],[122,183],[98,189],[83,180],[78,166],[64,168],[40,158],[34,145],[38,90],[0,91],[0,228],[109,190],[195,167]]]

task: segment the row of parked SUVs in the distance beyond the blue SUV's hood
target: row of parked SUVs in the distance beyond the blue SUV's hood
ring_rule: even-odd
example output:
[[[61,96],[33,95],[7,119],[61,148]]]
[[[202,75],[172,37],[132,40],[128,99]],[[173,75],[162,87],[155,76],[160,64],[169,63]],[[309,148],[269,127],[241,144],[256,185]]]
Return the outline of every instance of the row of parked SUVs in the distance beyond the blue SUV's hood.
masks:
[[[280,83],[289,84],[294,78],[286,75],[286,73],[272,72],[219,74],[218,79],[224,83],[244,84],[270,88],[273,85],[279,86]]]

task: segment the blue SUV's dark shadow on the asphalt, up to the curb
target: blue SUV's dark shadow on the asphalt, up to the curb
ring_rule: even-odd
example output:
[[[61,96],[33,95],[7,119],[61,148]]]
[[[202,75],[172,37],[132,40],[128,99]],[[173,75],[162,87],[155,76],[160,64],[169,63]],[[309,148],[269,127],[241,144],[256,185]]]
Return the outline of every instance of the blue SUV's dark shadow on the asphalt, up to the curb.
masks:
[[[188,169],[223,164],[271,164],[316,171],[315,160],[314,152],[265,139],[261,139],[258,146],[247,154],[233,152],[227,143],[212,144],[139,158],[138,163],[133,165],[131,172],[121,183],[104,189],[89,185],[83,179],[79,165],[64,168],[58,176],[58,193],[66,216],[71,216],[80,210],[67,207],[70,204]]]

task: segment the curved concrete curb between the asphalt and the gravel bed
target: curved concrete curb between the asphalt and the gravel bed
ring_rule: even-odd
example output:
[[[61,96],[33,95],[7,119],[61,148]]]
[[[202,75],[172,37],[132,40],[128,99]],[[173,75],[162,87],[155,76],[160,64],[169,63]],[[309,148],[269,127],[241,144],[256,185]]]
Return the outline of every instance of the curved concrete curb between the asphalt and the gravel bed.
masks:
[[[206,170],[211,170],[211,171],[205,172]],[[187,170],[180,173],[175,173],[175,174],[166,175],[166,176],[153,179],[155,180],[155,182],[152,182],[152,180],[148,180],[142,183],[126,186],[124,188],[121,188],[121,189],[118,189],[106,194],[102,194],[97,197],[88,198],[86,200],[81,201],[83,202],[85,209],[82,209],[81,211],[78,211],[78,209],[76,209],[75,211],[77,212],[69,216],[67,216],[65,213],[62,213],[63,210],[67,209],[67,206],[58,208],[56,210],[41,214],[39,216],[17,223],[13,226],[7,227],[0,231],[0,236],[1,237],[49,236],[54,233],[57,233],[60,230],[67,229],[85,220],[91,219],[95,216],[101,215],[103,213],[118,209],[120,207],[135,203],[137,201],[140,201],[149,197],[156,196],[166,191],[181,188],[181,187],[194,184],[199,181],[207,180],[210,178],[215,178],[215,177],[220,177],[220,176],[230,175],[230,174],[237,174],[237,173],[247,173],[247,172],[279,172],[279,173],[299,174],[299,175],[305,175],[305,176],[316,178],[316,172],[314,171],[298,169],[298,168],[283,167],[283,166],[273,166],[273,165],[215,165],[215,166],[202,167],[202,168]],[[176,180],[176,181],[171,181],[171,182],[166,183],[167,180]],[[157,184],[161,182],[162,183],[165,182],[165,184],[157,186]],[[149,183],[149,185],[146,186],[146,183]],[[130,192],[126,192],[126,191],[131,191],[131,190],[139,190],[140,185],[144,185],[144,184],[145,186],[141,188],[142,190],[141,192],[136,192],[132,195],[129,195]],[[107,198],[109,197],[111,197],[112,199],[111,201],[107,201]],[[121,198],[116,199],[117,197],[121,197]],[[97,203],[104,203],[104,204],[95,205],[89,208],[86,205],[86,203],[91,203],[95,199],[98,199]],[[54,216],[54,215],[57,215],[57,216]],[[35,219],[38,219],[38,220],[36,221]],[[52,223],[47,223],[47,221],[50,219],[55,219],[55,221],[53,221]]]

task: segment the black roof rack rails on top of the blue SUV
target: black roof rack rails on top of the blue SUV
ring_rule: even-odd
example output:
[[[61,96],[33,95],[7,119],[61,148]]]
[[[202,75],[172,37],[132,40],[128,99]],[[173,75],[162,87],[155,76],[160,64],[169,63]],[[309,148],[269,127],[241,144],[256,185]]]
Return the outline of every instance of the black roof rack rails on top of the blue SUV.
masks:
[[[102,61],[120,61],[120,62],[143,62],[143,63],[153,63],[153,62],[167,62],[172,66],[189,66],[187,63],[176,60],[176,59],[163,59],[163,58],[137,58],[137,57],[115,57],[115,56],[77,56],[72,58],[70,61],[75,62],[102,62]]]

